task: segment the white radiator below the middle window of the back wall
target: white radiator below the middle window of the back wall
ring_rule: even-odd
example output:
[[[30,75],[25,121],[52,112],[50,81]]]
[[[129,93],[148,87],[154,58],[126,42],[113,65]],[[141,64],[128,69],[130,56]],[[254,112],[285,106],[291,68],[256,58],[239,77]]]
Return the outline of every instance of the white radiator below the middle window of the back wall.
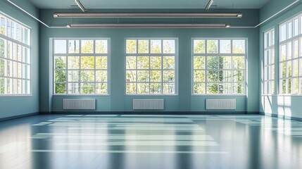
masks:
[[[163,99],[133,99],[133,110],[163,110]]]

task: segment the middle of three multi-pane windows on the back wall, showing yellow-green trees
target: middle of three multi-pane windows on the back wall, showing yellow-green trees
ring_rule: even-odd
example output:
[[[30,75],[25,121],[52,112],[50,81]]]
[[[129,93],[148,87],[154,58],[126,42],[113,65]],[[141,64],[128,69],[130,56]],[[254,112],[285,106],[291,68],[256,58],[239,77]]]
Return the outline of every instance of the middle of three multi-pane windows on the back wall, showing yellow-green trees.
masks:
[[[177,39],[126,39],[126,94],[177,93]]]

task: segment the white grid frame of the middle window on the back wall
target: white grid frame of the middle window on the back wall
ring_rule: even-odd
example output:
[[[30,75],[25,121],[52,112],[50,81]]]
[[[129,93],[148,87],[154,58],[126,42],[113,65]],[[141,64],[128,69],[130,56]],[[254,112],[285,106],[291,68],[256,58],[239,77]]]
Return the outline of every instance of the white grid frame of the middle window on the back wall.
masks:
[[[127,40],[149,40],[149,53],[148,54],[127,54]],[[150,42],[151,40],[161,40],[161,51],[163,51],[163,40],[175,40],[175,54],[163,54],[163,52],[161,54],[151,54],[151,45],[150,45]],[[153,38],[153,37],[139,37],[139,38],[134,38],[134,37],[130,37],[130,38],[125,38],[124,40],[124,44],[125,44],[125,61],[124,61],[124,65],[125,65],[125,68],[124,68],[124,72],[125,72],[125,75],[124,75],[124,82],[125,82],[125,89],[124,89],[124,94],[125,96],[177,96],[178,95],[178,38],[172,38],[172,37],[158,37],[158,38]],[[137,51],[139,51],[139,45],[137,43]],[[149,69],[144,69],[144,70],[161,70],[161,82],[154,82],[154,83],[161,83],[161,87],[162,87],[162,91],[161,91],[161,94],[127,94],[127,80],[126,80],[126,71],[127,70],[139,70],[139,69],[127,69],[126,68],[126,58],[127,56],[149,56],[149,59],[150,59],[150,56],[161,56],[161,69],[151,69],[149,67]],[[163,84],[165,83],[172,83],[172,82],[163,82],[163,56],[175,56],[175,81],[174,81],[174,88],[175,88],[175,93],[174,94],[164,94],[163,93]],[[149,74],[150,76],[150,74]],[[150,79],[150,78],[149,78]],[[135,83],[136,85],[139,83],[139,82],[131,82],[131,83]],[[153,83],[153,82],[144,82],[144,83],[149,83],[149,87],[150,87],[150,84]]]

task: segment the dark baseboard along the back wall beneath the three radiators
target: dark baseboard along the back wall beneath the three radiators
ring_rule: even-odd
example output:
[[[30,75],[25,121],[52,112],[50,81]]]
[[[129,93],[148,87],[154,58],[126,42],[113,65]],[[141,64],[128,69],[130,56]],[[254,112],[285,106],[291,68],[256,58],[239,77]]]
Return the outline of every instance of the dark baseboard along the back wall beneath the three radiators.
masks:
[[[40,114],[115,114],[115,115],[245,115],[259,114],[246,111],[51,111]]]

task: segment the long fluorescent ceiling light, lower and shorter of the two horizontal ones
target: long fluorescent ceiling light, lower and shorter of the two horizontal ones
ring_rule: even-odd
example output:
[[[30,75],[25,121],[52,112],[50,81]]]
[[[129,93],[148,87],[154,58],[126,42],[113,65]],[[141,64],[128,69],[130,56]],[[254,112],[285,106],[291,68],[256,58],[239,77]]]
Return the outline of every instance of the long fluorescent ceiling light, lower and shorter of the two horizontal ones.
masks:
[[[227,24],[70,24],[70,28],[228,28]]]

